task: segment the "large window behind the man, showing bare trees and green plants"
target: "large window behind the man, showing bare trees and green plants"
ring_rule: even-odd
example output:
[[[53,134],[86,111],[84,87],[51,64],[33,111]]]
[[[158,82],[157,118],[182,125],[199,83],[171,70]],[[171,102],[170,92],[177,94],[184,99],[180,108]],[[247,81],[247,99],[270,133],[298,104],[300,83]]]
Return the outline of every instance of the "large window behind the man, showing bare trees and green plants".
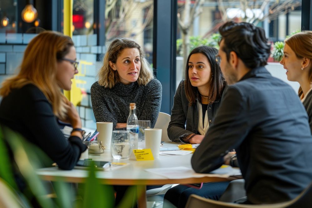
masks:
[[[218,28],[228,20],[250,22],[263,27],[272,49],[276,41],[284,41],[286,36],[301,29],[301,0],[196,2],[178,0],[177,83],[184,78],[183,60],[189,52],[198,45],[218,47]],[[270,57],[269,62],[273,61],[278,62]],[[275,67],[280,66],[278,64]],[[284,75],[277,76],[285,78]]]

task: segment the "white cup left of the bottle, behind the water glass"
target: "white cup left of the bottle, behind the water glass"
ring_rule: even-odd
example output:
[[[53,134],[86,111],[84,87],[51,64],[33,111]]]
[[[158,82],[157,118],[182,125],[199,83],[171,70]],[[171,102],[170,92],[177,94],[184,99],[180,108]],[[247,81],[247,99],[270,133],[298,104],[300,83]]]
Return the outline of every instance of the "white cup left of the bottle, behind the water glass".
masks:
[[[112,140],[113,123],[112,122],[96,122],[96,130],[99,132],[98,140],[102,141],[105,149],[110,149]]]

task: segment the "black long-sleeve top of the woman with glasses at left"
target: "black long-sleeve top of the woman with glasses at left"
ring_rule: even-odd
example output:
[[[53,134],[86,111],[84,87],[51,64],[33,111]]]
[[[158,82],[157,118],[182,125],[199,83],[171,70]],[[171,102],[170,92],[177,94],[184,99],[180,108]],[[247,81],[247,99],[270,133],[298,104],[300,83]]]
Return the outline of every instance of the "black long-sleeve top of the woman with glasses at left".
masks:
[[[79,137],[64,137],[51,104],[32,84],[13,89],[2,99],[0,123],[41,148],[61,169],[72,169],[86,150]]]

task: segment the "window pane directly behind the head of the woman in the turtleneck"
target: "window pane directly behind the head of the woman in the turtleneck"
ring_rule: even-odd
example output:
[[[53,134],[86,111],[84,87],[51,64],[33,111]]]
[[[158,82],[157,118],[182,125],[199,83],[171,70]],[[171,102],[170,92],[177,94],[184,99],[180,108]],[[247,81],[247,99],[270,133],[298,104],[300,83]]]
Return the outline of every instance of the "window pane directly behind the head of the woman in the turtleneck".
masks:
[[[129,37],[144,46],[149,63],[153,51],[153,0],[106,1],[105,37]]]

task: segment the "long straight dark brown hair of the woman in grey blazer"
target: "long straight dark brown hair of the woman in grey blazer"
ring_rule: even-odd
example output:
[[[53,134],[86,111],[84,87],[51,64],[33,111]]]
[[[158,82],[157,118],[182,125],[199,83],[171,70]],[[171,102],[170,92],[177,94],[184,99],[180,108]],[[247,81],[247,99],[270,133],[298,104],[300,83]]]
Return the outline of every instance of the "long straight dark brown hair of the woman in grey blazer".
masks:
[[[207,60],[210,64],[211,73],[212,73],[212,80],[210,82],[210,89],[208,95],[208,102],[212,103],[215,100],[219,99],[222,93],[223,87],[226,85],[225,78],[220,70],[219,63],[216,61],[216,55],[218,54],[218,50],[213,47],[209,46],[198,46],[191,51],[188,55],[188,60],[186,61],[185,66],[185,94],[186,98],[188,99],[188,105],[191,106],[195,103],[195,98],[201,99],[200,94],[198,92],[197,87],[193,87],[188,76],[188,61],[190,57],[194,53],[202,53],[207,57]]]

